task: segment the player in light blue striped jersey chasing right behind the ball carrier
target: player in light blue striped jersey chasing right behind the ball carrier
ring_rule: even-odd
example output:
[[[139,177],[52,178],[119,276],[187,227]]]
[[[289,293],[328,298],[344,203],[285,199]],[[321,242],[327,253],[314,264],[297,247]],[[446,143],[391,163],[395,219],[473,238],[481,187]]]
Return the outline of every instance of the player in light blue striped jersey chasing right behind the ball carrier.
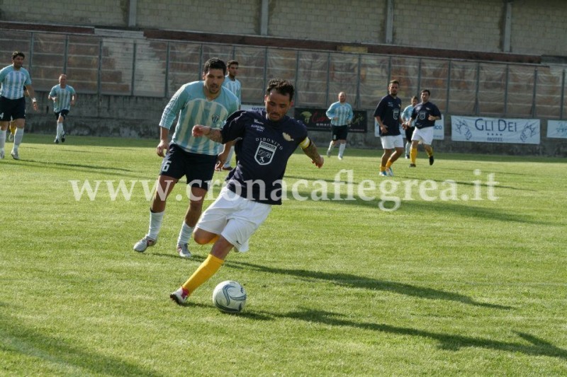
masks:
[[[223,88],[225,74],[225,62],[218,58],[208,59],[203,68],[203,81],[181,86],[164,109],[162,120],[159,122],[157,145],[157,155],[164,159],[150,207],[149,230],[144,238],[134,245],[134,250],[139,253],[143,253],[148,246],[157,242],[167,197],[179,179],[185,176],[187,184],[191,186],[191,197],[177,239],[177,253],[181,257],[191,257],[187,243],[201,216],[203,199],[210,180],[213,179],[215,164],[222,166],[225,163],[233,144],[225,144],[225,149],[219,154],[222,144],[205,137],[193,137],[191,129],[197,124],[220,129],[227,117],[238,110],[236,96]],[[170,143],[169,129],[176,118],[177,124]]]

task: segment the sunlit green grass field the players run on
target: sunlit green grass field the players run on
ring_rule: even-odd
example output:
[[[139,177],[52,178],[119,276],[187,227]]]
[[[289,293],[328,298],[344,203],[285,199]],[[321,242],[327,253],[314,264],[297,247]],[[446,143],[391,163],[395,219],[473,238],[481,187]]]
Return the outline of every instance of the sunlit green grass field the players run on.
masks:
[[[132,250],[155,144],[26,134],[13,161],[6,143],[0,375],[567,375],[565,159],[437,153],[430,167],[420,151],[379,179],[381,151],[335,150],[320,170],[298,152],[286,183],[315,200],[274,207],[250,251],[177,306],[210,247],[176,255],[177,185],[157,245]],[[77,200],[87,181],[99,191]],[[247,289],[240,315],[211,302],[226,279]]]

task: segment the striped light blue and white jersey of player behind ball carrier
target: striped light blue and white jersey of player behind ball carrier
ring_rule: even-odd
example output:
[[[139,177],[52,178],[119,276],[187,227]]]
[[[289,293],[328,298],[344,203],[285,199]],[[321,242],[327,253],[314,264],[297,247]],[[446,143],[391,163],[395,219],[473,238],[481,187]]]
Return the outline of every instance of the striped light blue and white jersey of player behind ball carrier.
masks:
[[[223,127],[226,118],[238,110],[238,98],[221,86],[218,97],[208,100],[204,85],[204,81],[193,81],[181,86],[165,107],[159,126],[171,129],[175,117],[179,115],[172,143],[190,153],[215,156],[220,153],[222,144],[210,141],[207,137],[193,137],[191,130],[195,124],[218,129]]]

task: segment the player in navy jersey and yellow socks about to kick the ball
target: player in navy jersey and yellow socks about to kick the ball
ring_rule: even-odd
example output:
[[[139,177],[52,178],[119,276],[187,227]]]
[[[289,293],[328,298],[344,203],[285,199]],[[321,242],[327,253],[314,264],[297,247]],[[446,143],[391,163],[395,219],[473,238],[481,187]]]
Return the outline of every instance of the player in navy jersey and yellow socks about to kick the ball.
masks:
[[[281,204],[281,180],[297,146],[301,146],[315,166],[323,165],[305,124],[286,115],[293,105],[293,93],[291,83],[272,79],[264,96],[266,110],[235,112],[222,130],[203,125],[193,127],[195,137],[220,143],[242,139],[235,144],[236,168],[230,171],[227,185],[203,212],[193,232],[196,243],[214,242],[213,248],[191,277],[169,295],[176,303],[184,303],[198,286],[210,279],[232,248],[240,253],[248,250],[249,238],[267,218],[271,205]]]

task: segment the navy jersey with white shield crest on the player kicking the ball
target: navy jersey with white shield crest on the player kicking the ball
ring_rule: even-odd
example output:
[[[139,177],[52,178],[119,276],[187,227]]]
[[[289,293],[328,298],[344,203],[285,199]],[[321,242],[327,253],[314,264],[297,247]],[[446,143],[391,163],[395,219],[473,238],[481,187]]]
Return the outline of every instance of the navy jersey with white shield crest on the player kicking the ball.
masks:
[[[305,124],[291,117],[272,122],[265,110],[234,112],[221,130],[223,144],[235,140],[236,168],[227,187],[241,197],[265,204],[281,204],[281,180],[289,157],[307,137]]]

